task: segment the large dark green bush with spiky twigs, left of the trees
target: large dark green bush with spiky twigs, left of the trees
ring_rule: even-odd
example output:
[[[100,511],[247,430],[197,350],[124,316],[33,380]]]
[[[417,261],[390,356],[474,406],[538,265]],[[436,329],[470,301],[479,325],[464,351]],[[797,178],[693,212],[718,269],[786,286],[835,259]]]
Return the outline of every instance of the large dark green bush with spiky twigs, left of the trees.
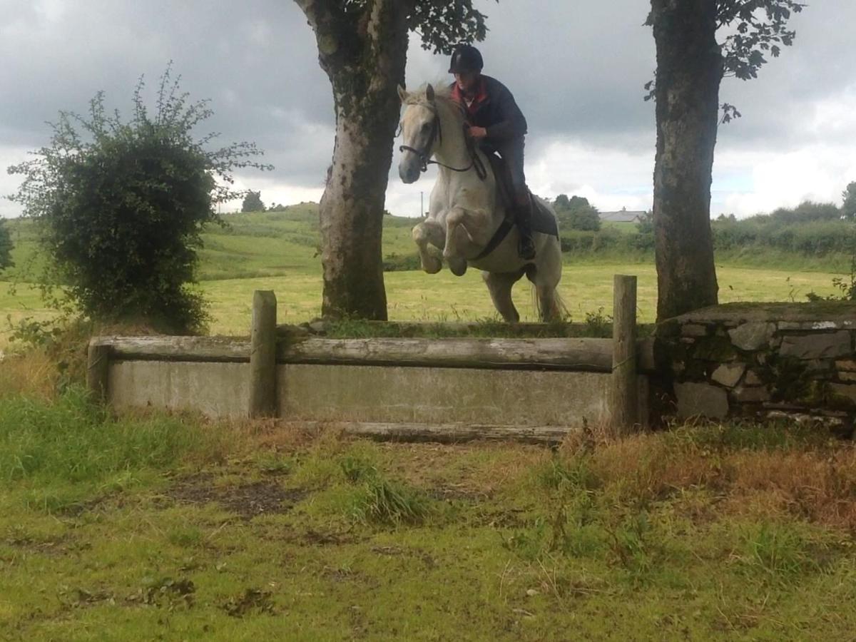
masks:
[[[269,168],[247,160],[260,153],[251,143],[206,151],[213,134],[194,140],[211,109],[188,103],[169,68],[153,115],[143,88],[140,79],[128,123],[104,109],[103,92],[86,117],[60,112],[51,145],[9,168],[24,175],[12,199],[41,223],[39,241],[53,259],[41,280],[64,286],[57,305],[98,320],[199,330],[205,303],[188,284],[203,226],[220,220],[212,204],[242,195],[229,187],[232,169]]]

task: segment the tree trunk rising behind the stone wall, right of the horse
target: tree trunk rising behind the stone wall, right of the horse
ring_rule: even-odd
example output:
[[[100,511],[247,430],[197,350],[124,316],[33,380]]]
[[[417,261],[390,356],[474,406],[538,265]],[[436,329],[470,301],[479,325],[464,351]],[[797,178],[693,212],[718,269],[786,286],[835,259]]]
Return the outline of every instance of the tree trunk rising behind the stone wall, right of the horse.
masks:
[[[657,320],[717,302],[710,182],[722,55],[715,0],[651,0],[657,43]]]

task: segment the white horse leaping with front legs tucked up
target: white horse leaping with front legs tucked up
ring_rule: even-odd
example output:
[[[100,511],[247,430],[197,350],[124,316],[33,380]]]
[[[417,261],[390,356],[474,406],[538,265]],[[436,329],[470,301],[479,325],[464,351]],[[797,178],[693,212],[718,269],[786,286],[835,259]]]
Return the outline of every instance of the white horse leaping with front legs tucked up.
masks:
[[[404,105],[401,181],[417,181],[428,163],[439,167],[428,216],[413,228],[422,269],[436,274],[443,267],[429,250],[431,244],[443,250],[443,259],[456,276],[462,276],[467,265],[482,270],[493,305],[509,323],[520,320],[511,288],[526,274],[535,286],[542,320],[562,318],[564,307],[556,293],[562,277],[559,240],[536,231],[532,235],[535,259],[520,259],[517,227],[508,221],[490,163],[478,147],[468,144],[461,106],[449,98],[448,91],[435,92],[431,85],[412,93],[399,86],[398,95]],[[550,205],[541,203],[555,219]]]

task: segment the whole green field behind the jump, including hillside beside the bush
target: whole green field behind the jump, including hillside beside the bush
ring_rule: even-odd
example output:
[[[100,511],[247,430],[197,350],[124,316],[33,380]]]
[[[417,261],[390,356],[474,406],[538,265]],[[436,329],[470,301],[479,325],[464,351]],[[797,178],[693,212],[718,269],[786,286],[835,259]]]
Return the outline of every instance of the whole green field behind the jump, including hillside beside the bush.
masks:
[[[246,334],[253,290],[276,292],[281,323],[298,323],[321,312],[321,265],[317,256],[317,205],[296,205],[284,212],[228,215],[224,229],[212,227],[204,235],[200,253],[201,288],[211,302],[214,334]],[[39,255],[29,222],[13,224],[15,263],[35,270]],[[383,254],[387,258],[415,254],[410,238],[413,220],[387,217]],[[631,233],[625,229],[626,233]],[[805,262],[806,264],[808,261]],[[653,321],[656,312],[657,276],[651,259],[627,263],[615,258],[580,258],[566,255],[560,293],[573,320],[588,313],[609,315],[612,307],[612,277],[639,276],[639,320]],[[832,294],[834,273],[807,271],[793,257],[787,268],[717,265],[720,300],[805,300],[805,294]],[[3,275],[9,282],[21,281],[16,294],[0,283],[0,320],[42,319],[51,316],[36,291],[27,288],[26,270],[13,269]],[[389,318],[395,320],[455,321],[495,318],[490,298],[479,273],[471,270],[455,277],[449,270],[437,275],[421,271],[392,271],[385,277]],[[524,320],[535,320],[532,291],[526,280],[514,289],[514,300]],[[8,324],[0,326],[0,346],[8,342]]]

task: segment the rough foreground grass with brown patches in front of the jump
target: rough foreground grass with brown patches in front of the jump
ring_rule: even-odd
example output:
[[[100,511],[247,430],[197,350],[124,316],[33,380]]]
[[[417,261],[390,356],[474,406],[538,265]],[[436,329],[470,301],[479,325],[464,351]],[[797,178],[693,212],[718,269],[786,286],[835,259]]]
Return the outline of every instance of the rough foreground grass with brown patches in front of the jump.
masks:
[[[8,639],[779,640],[856,627],[841,606],[856,597],[856,449],[816,433],[588,433],[556,452],[380,444],[117,420],[69,389],[56,403],[0,399],[0,440]]]

